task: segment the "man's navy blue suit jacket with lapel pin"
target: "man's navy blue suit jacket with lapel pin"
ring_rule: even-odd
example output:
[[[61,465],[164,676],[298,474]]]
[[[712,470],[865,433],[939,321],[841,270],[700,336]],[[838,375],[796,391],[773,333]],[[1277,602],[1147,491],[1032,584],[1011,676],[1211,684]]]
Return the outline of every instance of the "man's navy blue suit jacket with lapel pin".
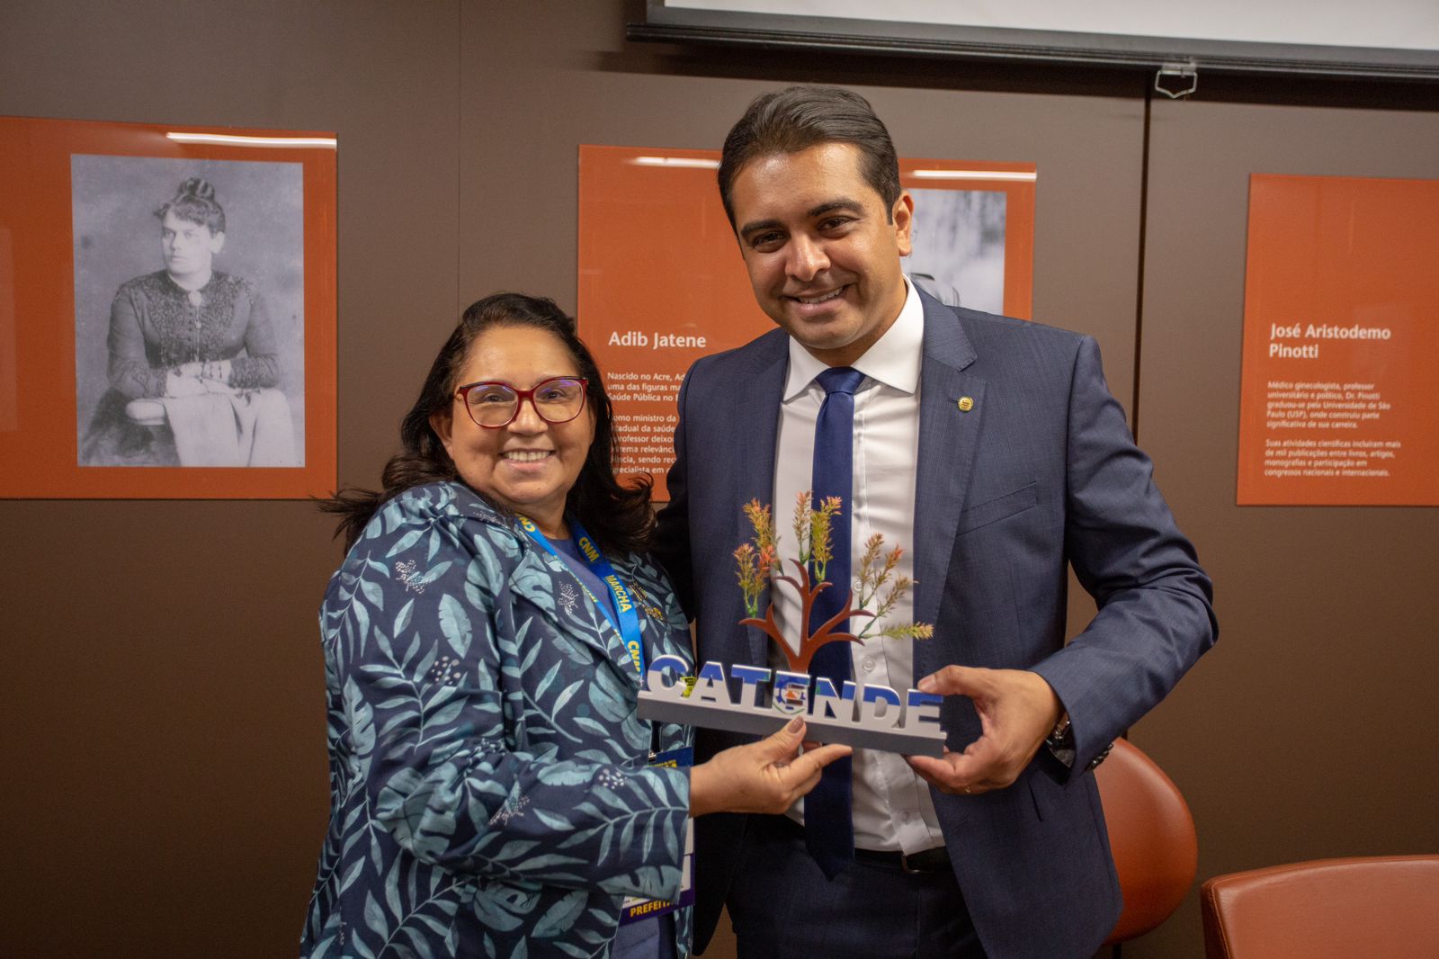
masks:
[[[914,618],[934,623],[934,638],[915,644],[915,678],[948,664],[1033,670],[1063,701],[1076,744],[1072,766],[1040,749],[1007,789],[931,793],[991,959],[1089,956],[1121,903],[1085,766],[1213,644],[1210,582],[1151,481],[1091,337],[920,297],[920,452],[905,546]],[[773,501],[787,367],[789,338],[774,330],[695,363],[679,395],[656,553],[696,621],[699,661],[767,662],[767,638],[738,625],[731,551],[750,536],[741,504]],[[1099,612],[1065,645],[1069,564]],[[980,736],[968,698],[947,697],[941,717],[953,750]],[[699,730],[696,760],[744,740]],[[744,824],[730,814],[698,821],[696,947],[714,932]]]

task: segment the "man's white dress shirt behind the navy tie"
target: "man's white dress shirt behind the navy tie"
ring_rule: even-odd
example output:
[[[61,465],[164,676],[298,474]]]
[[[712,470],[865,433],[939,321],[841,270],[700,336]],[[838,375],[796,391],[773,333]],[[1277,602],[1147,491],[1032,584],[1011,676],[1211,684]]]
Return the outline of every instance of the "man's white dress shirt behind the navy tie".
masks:
[[[915,461],[920,451],[920,367],[924,347],[924,307],[914,284],[905,278],[907,295],[899,317],[869,350],[853,363],[865,374],[855,392],[855,488],[846,503],[850,524],[850,575],[859,587],[859,559],[865,541],[875,533],[885,537],[885,551],[902,546],[898,573],[914,576]],[[814,377],[827,367],[790,338],[790,369],[780,402],[780,425],[774,448],[774,521],[780,534],[780,556],[796,556],[790,517],[794,500],[812,488],[814,420],[825,402],[825,389]],[[850,504],[853,507],[850,508]],[[771,589],[774,618],[797,647],[800,602],[787,586]],[[875,623],[878,634],[888,623],[914,619],[912,590],[895,603],[889,618]],[[850,621],[859,632],[865,618]],[[914,685],[911,639],[866,639],[850,644],[855,683],[888,685],[901,695]],[[922,639],[918,642],[924,642]],[[771,665],[789,668],[778,651]],[[928,785],[914,775],[895,753],[856,749],[853,759],[855,845],[862,850],[918,852],[944,844]],[[803,822],[803,799],[790,816]]]

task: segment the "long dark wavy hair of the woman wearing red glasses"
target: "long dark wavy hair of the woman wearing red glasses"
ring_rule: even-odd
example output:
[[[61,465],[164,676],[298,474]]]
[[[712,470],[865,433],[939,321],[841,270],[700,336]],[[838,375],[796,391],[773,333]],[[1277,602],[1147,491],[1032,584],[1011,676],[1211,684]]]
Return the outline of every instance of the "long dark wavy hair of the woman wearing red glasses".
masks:
[[[450,409],[475,340],[489,330],[507,327],[532,327],[554,334],[574,357],[578,374],[589,382],[586,403],[594,412],[594,442],[590,444],[589,456],[566,497],[567,513],[577,517],[604,549],[636,553],[648,549],[649,534],[655,526],[655,514],[649,508],[650,481],[648,477],[640,477],[635,485],[626,487],[614,478],[613,462],[617,446],[610,399],[604,395],[604,379],[594,364],[594,357],[576,334],[574,318],[567,317],[553,300],[499,292],[472,304],[440,347],[439,356],[430,366],[430,374],[420,389],[420,397],[400,422],[403,449],[384,465],[380,475],[383,488],[341,490],[321,503],[321,510],[340,517],[335,536],[344,534],[345,550],[360,539],[360,533],[376,511],[406,490],[426,482],[459,480],[455,461],[430,429],[430,416]],[[502,514],[508,514],[499,504],[488,497],[485,500]]]

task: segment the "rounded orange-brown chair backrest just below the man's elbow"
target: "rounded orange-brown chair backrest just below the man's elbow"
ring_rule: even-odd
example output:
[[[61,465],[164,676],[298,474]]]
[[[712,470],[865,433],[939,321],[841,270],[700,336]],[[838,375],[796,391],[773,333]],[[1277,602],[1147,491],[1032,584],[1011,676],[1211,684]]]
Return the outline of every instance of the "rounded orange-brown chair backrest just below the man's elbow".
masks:
[[[1194,818],[1179,786],[1138,746],[1115,740],[1095,770],[1124,911],[1105,945],[1143,936],[1184,901],[1199,868]]]

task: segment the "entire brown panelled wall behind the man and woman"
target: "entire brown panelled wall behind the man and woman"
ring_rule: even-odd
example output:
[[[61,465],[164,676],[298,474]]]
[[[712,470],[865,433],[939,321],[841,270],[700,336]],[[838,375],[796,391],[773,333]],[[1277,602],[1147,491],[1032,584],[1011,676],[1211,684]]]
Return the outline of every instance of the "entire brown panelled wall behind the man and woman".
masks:
[[[640,10],[10,0],[0,114],[337,131],[344,484],[376,480],[462,304],[574,305],[581,143],[715,147],[754,94],[822,81],[904,154],[1038,163],[1035,315],[1099,338],[1219,583],[1223,642],[1135,730],[1191,801],[1202,877],[1435,851],[1439,514],[1239,510],[1233,477],[1248,174],[1436,177],[1439,96],[1202,79],[1154,105],[1143,209],[1147,76],[629,45]],[[0,955],[292,955],[327,815],[328,524],[9,501],[0,528]],[[1193,897],[1125,955],[1199,956]]]

